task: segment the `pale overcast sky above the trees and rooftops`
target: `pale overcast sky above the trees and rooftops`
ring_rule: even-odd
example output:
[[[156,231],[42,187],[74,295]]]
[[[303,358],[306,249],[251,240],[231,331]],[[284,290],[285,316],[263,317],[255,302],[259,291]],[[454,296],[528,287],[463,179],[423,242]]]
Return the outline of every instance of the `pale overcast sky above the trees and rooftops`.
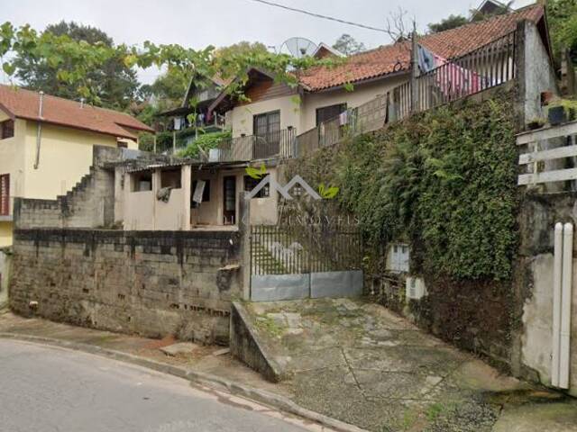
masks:
[[[420,30],[450,14],[467,14],[481,0],[271,0],[316,14],[346,21],[384,27],[387,16],[402,7],[417,18]],[[517,0],[515,7],[535,3]],[[240,40],[261,41],[279,46],[293,36],[332,45],[341,34],[349,33],[367,48],[390,42],[379,31],[333,23],[289,12],[252,0],[4,0],[0,22],[30,23],[43,29],[60,20],[76,21],[106,31],[116,43],[178,43],[193,48],[224,46]],[[158,72],[143,71],[143,81]]]

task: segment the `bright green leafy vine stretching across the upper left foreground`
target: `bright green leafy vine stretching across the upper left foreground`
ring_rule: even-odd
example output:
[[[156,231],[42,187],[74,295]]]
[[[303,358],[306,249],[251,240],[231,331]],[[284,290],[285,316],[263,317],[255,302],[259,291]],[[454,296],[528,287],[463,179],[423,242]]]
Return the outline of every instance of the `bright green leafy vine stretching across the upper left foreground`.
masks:
[[[135,67],[166,67],[169,76],[176,78],[187,76],[193,70],[196,76],[206,79],[213,76],[235,78],[233,83],[227,85],[227,91],[242,97],[251,67],[269,71],[279,82],[297,85],[298,74],[291,70],[331,67],[342,61],[334,58],[293,58],[262,49],[230,49],[216,55],[213,46],[190,49],[176,44],[156,45],[148,40],[142,46],[114,45],[109,40],[92,43],[92,40],[76,40],[75,35],[76,32],[59,35],[51,31],[39,34],[30,25],[16,28],[6,22],[0,26],[2,67],[7,75],[13,76],[20,71],[18,59],[26,58],[31,65],[41,64],[56,71],[57,84],[72,89],[73,98],[84,97],[87,103],[99,105],[112,101],[107,100],[107,96],[103,97],[106,94],[103,93],[104,87],[94,79],[93,74],[108,70],[106,65],[111,62],[116,66],[123,65],[131,74]],[[3,57],[8,51],[14,52],[15,60]],[[112,92],[114,89],[108,90]],[[150,94],[151,88],[147,88],[146,92]]]

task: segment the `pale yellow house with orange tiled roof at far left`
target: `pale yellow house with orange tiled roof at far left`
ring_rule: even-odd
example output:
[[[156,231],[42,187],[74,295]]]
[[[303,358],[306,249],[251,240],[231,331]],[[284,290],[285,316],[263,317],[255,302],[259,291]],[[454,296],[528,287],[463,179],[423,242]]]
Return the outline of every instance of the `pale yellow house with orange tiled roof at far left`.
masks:
[[[135,149],[140,131],[154,130],[124,112],[0,85],[0,247],[12,244],[14,197],[67,193],[94,146]]]

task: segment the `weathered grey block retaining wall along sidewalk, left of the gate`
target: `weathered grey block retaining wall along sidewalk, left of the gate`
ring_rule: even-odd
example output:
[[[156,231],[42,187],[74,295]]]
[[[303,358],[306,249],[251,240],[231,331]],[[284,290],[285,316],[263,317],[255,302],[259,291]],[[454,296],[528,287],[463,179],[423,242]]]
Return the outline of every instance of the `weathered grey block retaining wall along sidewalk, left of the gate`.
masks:
[[[17,229],[10,306],[96,329],[228,343],[242,296],[232,231]]]

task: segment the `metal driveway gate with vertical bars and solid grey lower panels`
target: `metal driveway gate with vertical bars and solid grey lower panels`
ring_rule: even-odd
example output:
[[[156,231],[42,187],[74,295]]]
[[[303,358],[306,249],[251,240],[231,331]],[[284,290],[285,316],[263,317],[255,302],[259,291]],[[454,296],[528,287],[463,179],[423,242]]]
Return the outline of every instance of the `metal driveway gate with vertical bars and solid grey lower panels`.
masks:
[[[251,227],[251,300],[362,294],[362,238],[353,229]]]

